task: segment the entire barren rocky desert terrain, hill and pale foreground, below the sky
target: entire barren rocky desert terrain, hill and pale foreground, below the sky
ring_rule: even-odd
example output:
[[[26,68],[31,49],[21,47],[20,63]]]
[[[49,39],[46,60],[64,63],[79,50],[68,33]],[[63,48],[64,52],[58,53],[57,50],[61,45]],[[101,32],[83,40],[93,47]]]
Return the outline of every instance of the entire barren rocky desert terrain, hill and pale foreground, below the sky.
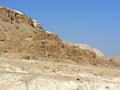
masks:
[[[119,90],[119,66],[100,50],[65,42],[0,7],[0,90]]]

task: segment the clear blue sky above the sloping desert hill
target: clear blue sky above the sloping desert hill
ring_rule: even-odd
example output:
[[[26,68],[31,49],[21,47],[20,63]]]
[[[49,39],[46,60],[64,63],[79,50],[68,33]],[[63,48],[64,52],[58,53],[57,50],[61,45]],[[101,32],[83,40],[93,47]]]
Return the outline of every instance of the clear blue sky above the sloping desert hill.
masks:
[[[61,39],[120,56],[120,0],[0,0]]]

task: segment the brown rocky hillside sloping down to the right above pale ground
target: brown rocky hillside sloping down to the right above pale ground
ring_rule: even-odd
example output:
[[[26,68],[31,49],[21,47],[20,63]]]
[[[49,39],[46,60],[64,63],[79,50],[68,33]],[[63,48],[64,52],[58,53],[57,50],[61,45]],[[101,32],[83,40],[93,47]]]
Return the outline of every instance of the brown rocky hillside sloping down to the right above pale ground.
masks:
[[[91,64],[96,63],[97,57],[94,51],[65,43],[56,34],[44,30],[37,21],[4,7],[0,8],[0,55],[23,59],[51,57]]]

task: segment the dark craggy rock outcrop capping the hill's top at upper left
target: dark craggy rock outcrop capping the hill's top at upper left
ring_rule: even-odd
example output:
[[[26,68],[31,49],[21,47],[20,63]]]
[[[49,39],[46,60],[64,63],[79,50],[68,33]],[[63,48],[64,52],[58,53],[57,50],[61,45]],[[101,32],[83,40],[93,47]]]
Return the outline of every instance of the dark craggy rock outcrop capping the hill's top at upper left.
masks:
[[[9,22],[11,24],[26,23],[35,28],[42,28],[37,21],[32,20],[30,17],[26,16],[25,14],[5,7],[0,8],[0,19],[4,22]]]

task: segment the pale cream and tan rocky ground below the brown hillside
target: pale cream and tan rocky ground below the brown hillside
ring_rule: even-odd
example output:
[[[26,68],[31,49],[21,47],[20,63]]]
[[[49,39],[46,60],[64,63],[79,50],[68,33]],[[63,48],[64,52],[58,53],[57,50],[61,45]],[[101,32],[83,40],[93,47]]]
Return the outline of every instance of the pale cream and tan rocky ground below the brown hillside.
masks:
[[[49,61],[48,61],[49,60]],[[0,59],[1,90],[119,90],[120,71],[78,65],[69,60],[53,62]],[[61,60],[62,61],[62,60]]]

